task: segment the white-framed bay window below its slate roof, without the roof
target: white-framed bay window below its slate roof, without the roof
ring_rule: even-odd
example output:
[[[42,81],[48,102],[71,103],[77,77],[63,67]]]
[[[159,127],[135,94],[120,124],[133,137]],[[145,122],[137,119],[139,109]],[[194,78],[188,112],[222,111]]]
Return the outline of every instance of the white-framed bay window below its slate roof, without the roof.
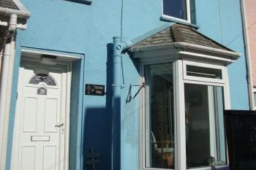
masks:
[[[227,166],[225,66],[186,60],[142,66],[143,169]]]

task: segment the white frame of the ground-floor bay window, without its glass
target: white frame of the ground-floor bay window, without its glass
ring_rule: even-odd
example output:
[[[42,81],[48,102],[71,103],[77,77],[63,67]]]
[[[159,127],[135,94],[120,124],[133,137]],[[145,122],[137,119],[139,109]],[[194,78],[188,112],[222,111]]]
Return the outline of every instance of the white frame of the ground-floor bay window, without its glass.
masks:
[[[230,92],[229,92],[229,82],[227,77],[227,67],[226,66],[219,66],[216,63],[203,63],[203,62],[195,62],[195,61],[187,61],[187,60],[178,60],[178,59],[165,59],[165,60],[158,60],[158,61],[146,61],[143,60],[140,64],[140,74],[141,76],[141,82],[145,82],[145,66],[150,64],[158,64],[158,63],[168,63],[173,62],[173,96],[174,96],[174,134],[175,134],[175,169],[176,170],[184,170],[187,169],[187,161],[186,161],[186,127],[185,127],[185,97],[184,97],[184,84],[197,84],[197,85],[213,85],[213,86],[219,86],[223,89],[223,101],[224,101],[224,108],[230,109]],[[196,66],[207,66],[208,68],[212,69],[221,69],[222,70],[222,81],[216,81],[215,79],[209,78],[207,81],[203,81],[200,79],[201,77],[190,77],[190,79],[187,79],[187,77],[184,77],[184,72],[186,73],[187,64],[191,63],[197,63]],[[146,128],[146,90],[143,89],[143,93],[140,94],[140,159],[139,159],[139,169],[142,170],[165,170],[165,169],[157,169],[157,168],[146,168],[146,139],[145,139],[145,131]],[[226,159],[227,159],[227,165],[228,166],[228,155],[226,151]],[[225,167],[225,166],[218,166]],[[211,167],[205,167],[205,168],[197,168],[192,170],[211,170]]]

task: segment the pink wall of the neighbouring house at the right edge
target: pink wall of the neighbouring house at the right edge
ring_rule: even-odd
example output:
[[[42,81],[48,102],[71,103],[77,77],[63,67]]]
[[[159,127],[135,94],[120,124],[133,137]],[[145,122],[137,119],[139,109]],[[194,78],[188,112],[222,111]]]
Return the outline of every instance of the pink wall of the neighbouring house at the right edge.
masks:
[[[246,8],[246,29],[249,36],[249,54],[252,62],[253,86],[256,88],[256,1],[244,1]]]

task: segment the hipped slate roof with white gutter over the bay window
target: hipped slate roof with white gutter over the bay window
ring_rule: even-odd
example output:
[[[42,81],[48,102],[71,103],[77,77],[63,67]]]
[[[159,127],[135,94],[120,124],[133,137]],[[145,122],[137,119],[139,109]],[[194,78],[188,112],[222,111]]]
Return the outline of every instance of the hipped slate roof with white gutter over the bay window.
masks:
[[[197,57],[207,58],[206,55],[208,55],[216,61],[225,61],[225,63],[232,63],[240,57],[239,53],[201,34],[192,26],[179,23],[143,39],[129,50],[135,58],[153,55],[152,51],[163,51],[165,55],[181,54],[181,57],[187,54],[186,56],[197,55]]]

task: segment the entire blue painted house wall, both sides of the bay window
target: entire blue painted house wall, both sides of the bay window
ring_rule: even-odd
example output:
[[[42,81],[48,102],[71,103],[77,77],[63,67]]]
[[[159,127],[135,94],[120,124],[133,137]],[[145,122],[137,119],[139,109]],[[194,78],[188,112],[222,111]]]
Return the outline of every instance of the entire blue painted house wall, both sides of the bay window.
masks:
[[[122,20],[121,1],[116,0],[95,0],[91,5],[64,0],[21,1],[31,12],[31,18],[27,30],[18,31],[17,36],[7,170],[10,169],[15,94],[22,47],[84,56],[83,60],[73,65],[72,96],[75,101],[71,106],[72,153],[69,155],[69,167],[72,170],[87,169],[86,153],[94,147],[100,154],[99,169],[110,169],[112,37],[122,34],[123,39],[138,41],[148,31],[150,34],[156,28],[170,25],[170,22],[160,19],[162,0],[124,0]],[[228,66],[231,105],[232,109],[248,109],[239,0],[195,0],[195,6],[199,31],[242,54],[238,61]],[[126,103],[126,98],[129,85],[140,84],[140,63],[127,53],[123,60],[125,87],[121,89],[121,169],[130,170],[138,169],[140,108],[138,98],[129,103]],[[86,83],[106,85],[106,95],[84,96]],[[136,88],[132,90],[136,92]]]

